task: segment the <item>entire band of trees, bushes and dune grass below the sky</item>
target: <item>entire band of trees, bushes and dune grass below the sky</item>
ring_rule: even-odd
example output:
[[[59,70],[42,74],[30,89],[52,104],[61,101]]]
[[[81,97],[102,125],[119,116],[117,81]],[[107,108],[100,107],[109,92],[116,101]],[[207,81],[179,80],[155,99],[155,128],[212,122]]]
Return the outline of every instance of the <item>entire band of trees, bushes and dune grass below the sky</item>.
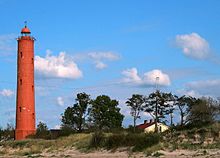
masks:
[[[128,98],[126,105],[131,109],[133,126],[122,128],[124,116],[120,113],[118,101],[100,95],[91,99],[86,93],[77,94],[75,104],[62,114],[62,128],[57,135],[39,122],[34,136],[24,141],[13,141],[14,128],[0,128],[0,155],[14,149],[14,154],[31,156],[43,150],[71,149],[82,151],[104,148],[116,150],[127,148],[143,151],[147,155],[159,157],[161,149],[213,149],[220,148],[220,101],[213,98],[193,98],[176,96],[156,91],[149,96],[139,94]],[[179,111],[180,122],[173,123],[172,115]],[[141,112],[148,112],[157,122],[170,121],[170,130],[145,134],[136,128],[136,120]],[[177,113],[175,113],[177,114]],[[170,119],[169,119],[170,118]],[[134,132],[135,131],[135,132]],[[65,137],[62,137],[65,136]],[[37,140],[36,140],[37,139]],[[46,140],[45,140],[46,139]],[[204,150],[205,151],[205,150]],[[206,153],[206,152],[204,152]]]

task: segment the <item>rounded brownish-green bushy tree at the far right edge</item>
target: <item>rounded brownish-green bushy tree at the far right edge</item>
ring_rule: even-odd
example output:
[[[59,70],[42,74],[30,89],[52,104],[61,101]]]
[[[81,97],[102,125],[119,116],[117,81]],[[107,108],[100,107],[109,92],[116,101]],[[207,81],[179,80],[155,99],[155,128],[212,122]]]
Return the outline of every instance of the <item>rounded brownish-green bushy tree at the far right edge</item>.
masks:
[[[211,97],[197,99],[189,109],[187,121],[196,126],[213,123],[220,115],[219,102]]]

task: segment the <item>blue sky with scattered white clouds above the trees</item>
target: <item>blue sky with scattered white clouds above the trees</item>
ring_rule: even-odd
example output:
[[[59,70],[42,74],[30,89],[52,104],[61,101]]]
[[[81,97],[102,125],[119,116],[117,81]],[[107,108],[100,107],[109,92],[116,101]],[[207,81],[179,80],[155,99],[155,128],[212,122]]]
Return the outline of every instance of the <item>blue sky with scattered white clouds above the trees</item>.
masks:
[[[0,0],[0,127],[15,124],[17,41],[35,41],[36,121],[59,128],[77,93],[119,101],[158,88],[220,96],[218,0]],[[176,121],[178,121],[176,112]],[[141,114],[138,123],[150,119]]]

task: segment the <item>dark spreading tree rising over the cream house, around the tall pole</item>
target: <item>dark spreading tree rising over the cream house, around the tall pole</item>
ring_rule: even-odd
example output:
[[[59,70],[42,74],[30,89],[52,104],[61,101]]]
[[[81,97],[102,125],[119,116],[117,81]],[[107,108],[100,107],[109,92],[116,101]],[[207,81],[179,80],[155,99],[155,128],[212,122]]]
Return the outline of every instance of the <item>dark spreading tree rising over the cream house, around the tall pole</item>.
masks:
[[[172,111],[169,111],[171,102],[171,93],[163,93],[160,91],[153,92],[145,100],[145,112],[148,112],[155,122],[155,132],[158,132],[158,122],[162,122],[165,115]]]

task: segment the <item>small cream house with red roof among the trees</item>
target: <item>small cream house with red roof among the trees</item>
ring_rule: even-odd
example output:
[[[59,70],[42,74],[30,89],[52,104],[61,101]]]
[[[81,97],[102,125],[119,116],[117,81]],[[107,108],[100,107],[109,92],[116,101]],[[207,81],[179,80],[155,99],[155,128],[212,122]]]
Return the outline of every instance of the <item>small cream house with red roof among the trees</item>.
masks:
[[[158,131],[159,132],[164,132],[169,129],[169,126],[158,122]],[[143,129],[145,133],[150,133],[155,131],[155,122],[150,120],[149,122],[147,120],[144,120],[143,124],[137,125],[137,128]]]

